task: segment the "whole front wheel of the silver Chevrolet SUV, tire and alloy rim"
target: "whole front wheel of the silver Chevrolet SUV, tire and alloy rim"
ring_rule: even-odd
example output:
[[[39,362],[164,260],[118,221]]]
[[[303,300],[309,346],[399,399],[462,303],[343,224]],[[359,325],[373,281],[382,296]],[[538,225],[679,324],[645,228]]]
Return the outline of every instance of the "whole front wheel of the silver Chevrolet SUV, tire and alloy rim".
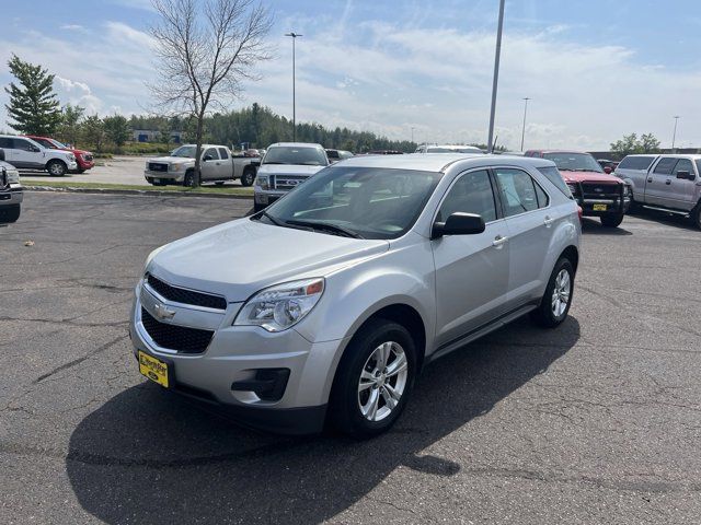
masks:
[[[415,375],[416,347],[406,328],[387,319],[370,320],[338,363],[330,399],[332,424],[356,439],[386,432],[406,406]]]

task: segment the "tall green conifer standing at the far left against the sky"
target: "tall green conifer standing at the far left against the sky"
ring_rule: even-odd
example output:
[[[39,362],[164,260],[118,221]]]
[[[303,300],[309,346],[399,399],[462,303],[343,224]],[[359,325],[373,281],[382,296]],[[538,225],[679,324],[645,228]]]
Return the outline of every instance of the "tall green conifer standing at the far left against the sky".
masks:
[[[4,91],[10,95],[5,104],[13,121],[8,125],[21,133],[54,135],[61,122],[61,110],[54,93],[54,75],[42,66],[25,62],[16,55],[8,61],[10,72],[18,79]]]

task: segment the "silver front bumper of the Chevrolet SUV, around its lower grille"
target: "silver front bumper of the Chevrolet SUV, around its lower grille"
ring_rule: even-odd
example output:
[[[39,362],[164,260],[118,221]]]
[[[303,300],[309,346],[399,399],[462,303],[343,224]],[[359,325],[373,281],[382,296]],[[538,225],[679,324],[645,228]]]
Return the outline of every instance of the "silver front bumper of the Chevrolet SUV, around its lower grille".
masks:
[[[214,329],[202,353],[177,353],[159,347],[141,319],[143,307],[154,315],[156,304],[176,312],[176,326]],[[287,434],[323,429],[333,368],[343,340],[310,342],[295,329],[268,332],[255,326],[232,326],[242,303],[229,303],[226,312],[212,312],[164,300],[140,282],[131,311],[129,335],[134,353],[141,350],[172,368],[176,393],[219,406],[243,424]],[[169,324],[171,322],[161,320]],[[265,400],[241,384],[254,382],[260,371],[289,370],[277,400]]]

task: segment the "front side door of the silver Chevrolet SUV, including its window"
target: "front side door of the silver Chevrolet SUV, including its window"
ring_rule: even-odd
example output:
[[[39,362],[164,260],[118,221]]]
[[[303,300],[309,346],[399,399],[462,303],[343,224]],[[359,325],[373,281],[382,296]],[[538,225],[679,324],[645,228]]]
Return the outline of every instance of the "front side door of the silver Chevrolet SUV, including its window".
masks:
[[[497,213],[493,180],[486,170],[467,172],[456,178],[436,221],[445,221],[458,211],[482,215],[486,228],[476,235],[445,235],[432,243],[439,347],[502,315],[507,292],[508,231]]]

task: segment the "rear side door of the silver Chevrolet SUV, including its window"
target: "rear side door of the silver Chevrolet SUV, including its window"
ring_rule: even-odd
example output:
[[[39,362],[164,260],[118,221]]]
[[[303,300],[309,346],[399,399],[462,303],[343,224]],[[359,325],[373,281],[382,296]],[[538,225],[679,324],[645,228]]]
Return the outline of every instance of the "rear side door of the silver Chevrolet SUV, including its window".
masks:
[[[506,310],[514,311],[540,299],[543,266],[558,217],[550,208],[549,195],[528,172],[496,167],[494,173],[510,247]]]

